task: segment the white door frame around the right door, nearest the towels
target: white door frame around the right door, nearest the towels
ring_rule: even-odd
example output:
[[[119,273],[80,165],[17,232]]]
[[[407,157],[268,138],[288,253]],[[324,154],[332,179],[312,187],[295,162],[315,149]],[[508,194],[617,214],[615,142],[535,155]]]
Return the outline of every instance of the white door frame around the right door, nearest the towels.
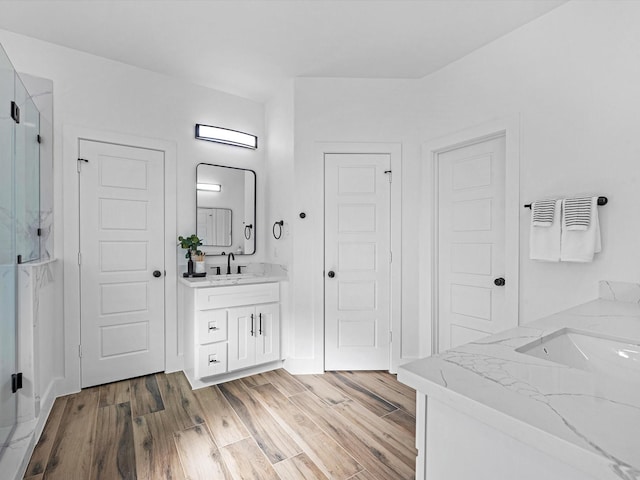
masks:
[[[422,209],[420,238],[420,356],[437,352],[438,322],[438,170],[439,153],[504,135],[505,137],[505,276],[511,295],[506,311],[519,324],[520,295],[520,116],[492,120],[430,140],[422,146]]]

